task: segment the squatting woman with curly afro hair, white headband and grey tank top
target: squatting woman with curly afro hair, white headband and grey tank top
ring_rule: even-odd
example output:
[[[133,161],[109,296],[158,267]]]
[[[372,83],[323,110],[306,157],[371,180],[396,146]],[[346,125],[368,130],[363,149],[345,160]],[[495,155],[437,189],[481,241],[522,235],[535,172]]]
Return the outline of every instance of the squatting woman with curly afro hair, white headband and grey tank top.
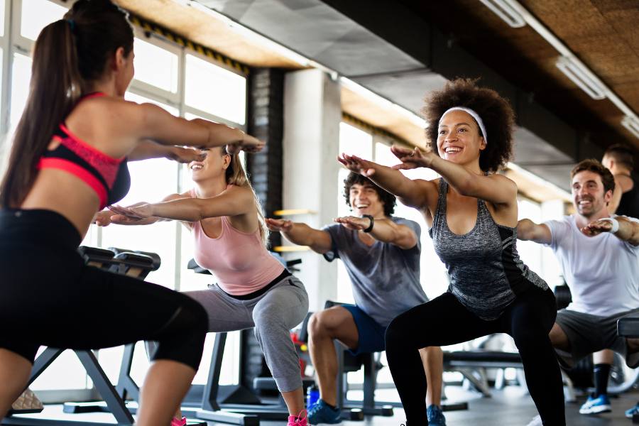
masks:
[[[454,80],[424,109],[425,152],[393,147],[400,165],[386,168],[350,155],[341,161],[420,209],[435,251],[447,266],[447,293],[398,316],[386,329],[386,356],[406,418],[427,425],[427,383],[415,349],[466,342],[492,333],[515,340],[544,425],[565,425],[559,365],[548,332],[555,297],[520,261],[517,185],[497,170],[510,158],[514,114],[508,102],[474,80]],[[393,169],[430,168],[441,178],[410,180]],[[437,324],[416,332],[416,324]]]

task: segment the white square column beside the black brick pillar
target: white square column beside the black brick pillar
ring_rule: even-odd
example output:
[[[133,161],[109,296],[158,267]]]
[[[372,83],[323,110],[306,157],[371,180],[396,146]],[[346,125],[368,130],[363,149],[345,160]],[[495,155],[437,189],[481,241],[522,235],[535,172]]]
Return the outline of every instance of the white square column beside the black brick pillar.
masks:
[[[337,216],[337,151],[342,121],[339,84],[320,70],[289,72],[284,87],[283,208],[315,214],[290,217],[320,229]],[[288,243],[285,243],[288,244]],[[297,276],[304,282],[310,310],[337,297],[337,266],[313,251],[289,253],[302,258]]]

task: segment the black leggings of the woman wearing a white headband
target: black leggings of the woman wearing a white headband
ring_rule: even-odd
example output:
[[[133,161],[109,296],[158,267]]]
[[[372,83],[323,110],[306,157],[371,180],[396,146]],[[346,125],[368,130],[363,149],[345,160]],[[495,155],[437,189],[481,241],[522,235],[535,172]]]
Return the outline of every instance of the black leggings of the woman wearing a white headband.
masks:
[[[451,293],[395,318],[386,329],[386,358],[410,426],[428,424],[427,384],[418,349],[457,344],[492,333],[508,333],[515,339],[528,390],[543,424],[564,426],[562,375],[548,337],[555,317],[552,291],[534,288],[519,295],[497,320],[481,320]]]

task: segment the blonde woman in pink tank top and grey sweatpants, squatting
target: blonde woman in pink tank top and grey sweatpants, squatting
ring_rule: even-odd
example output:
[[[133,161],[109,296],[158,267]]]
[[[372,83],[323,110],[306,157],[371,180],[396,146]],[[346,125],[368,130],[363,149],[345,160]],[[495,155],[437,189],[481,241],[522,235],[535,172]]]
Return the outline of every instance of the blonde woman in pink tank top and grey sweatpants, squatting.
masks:
[[[207,290],[186,292],[204,306],[209,332],[255,327],[266,364],[288,407],[288,424],[306,426],[300,364],[290,329],[308,311],[304,285],[266,249],[268,229],[239,156],[211,148],[189,164],[195,187],[154,204],[111,206],[96,223],[152,224],[178,220],[190,229],[195,260],[218,279]],[[181,416],[178,413],[178,418]]]

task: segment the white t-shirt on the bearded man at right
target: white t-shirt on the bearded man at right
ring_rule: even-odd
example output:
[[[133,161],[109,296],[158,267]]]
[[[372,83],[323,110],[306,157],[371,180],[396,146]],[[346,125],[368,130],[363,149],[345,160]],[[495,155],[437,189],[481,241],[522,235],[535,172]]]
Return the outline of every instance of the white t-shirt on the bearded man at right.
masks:
[[[639,308],[639,246],[609,232],[585,236],[574,216],[545,224],[552,235],[549,246],[572,293],[567,309],[608,317]]]

